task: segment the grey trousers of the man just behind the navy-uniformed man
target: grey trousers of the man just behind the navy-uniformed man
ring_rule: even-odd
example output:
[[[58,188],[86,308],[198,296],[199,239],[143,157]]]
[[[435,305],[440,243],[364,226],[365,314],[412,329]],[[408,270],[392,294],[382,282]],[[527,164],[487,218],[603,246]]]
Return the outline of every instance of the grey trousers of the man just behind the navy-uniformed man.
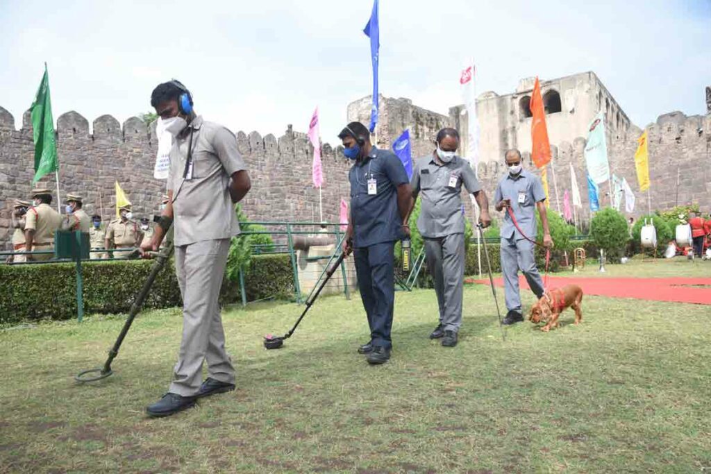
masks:
[[[461,301],[464,298],[464,234],[424,238],[427,271],[434,279],[439,304],[439,324],[444,330],[459,331]]]

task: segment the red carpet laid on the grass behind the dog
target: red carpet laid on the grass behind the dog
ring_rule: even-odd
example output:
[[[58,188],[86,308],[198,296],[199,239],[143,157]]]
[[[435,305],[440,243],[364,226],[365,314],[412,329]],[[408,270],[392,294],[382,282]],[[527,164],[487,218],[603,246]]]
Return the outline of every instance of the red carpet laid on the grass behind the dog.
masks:
[[[519,280],[521,288],[528,289],[525,278],[520,276]],[[489,281],[476,280],[474,283],[488,285]],[[494,279],[494,284],[496,284],[496,286],[503,286],[503,279]],[[711,305],[711,278],[548,277],[548,286],[550,288],[567,284],[580,286],[587,295]]]

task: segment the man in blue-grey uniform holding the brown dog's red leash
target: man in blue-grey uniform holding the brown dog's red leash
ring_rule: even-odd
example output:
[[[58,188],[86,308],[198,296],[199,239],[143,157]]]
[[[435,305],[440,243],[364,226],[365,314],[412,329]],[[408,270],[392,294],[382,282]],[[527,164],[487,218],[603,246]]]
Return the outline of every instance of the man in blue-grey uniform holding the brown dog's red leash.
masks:
[[[543,280],[535,265],[533,239],[536,236],[536,208],[543,226],[543,245],[550,248],[553,240],[548,229],[545,191],[540,179],[523,169],[520,151],[509,150],[505,158],[508,173],[499,181],[494,201],[496,210],[504,211],[501,224],[501,270],[508,313],[506,318],[503,318],[502,324],[514,324],[523,321],[518,270],[523,271],[528,286],[536,298],[540,299],[545,291]],[[515,221],[512,220],[510,212],[513,212]]]

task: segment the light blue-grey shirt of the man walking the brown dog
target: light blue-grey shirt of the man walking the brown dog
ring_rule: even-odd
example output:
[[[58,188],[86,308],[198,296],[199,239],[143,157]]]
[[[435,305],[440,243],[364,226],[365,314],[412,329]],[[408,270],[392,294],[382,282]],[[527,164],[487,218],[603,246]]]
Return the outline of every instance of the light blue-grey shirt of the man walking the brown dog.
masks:
[[[526,237],[535,239],[535,203],[545,200],[545,191],[538,176],[527,170],[521,170],[515,178],[510,173],[506,173],[506,176],[498,182],[493,198],[497,204],[502,199],[511,200],[511,210],[516,217],[518,227],[523,230]],[[501,238],[510,239],[514,234],[516,240],[523,239],[506,211],[501,225]]]

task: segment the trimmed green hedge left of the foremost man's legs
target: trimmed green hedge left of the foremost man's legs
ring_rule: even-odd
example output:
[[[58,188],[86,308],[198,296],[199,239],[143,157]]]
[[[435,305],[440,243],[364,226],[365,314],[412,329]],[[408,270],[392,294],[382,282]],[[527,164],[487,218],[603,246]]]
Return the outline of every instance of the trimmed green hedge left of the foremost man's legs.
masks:
[[[85,313],[125,313],[143,286],[150,261],[82,262]],[[0,265],[0,323],[77,316],[76,266]],[[181,304],[173,264],[156,278],[145,308]]]

